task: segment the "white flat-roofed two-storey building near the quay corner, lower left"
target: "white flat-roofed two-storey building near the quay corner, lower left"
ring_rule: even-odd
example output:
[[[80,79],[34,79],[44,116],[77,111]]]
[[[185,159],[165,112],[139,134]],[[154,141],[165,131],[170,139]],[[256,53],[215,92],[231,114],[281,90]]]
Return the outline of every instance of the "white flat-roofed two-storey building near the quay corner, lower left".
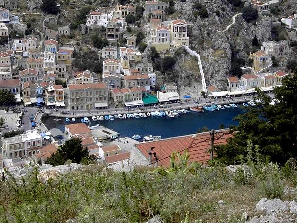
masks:
[[[37,153],[42,147],[42,136],[36,129],[24,134],[2,140],[2,156],[4,159],[24,158]]]

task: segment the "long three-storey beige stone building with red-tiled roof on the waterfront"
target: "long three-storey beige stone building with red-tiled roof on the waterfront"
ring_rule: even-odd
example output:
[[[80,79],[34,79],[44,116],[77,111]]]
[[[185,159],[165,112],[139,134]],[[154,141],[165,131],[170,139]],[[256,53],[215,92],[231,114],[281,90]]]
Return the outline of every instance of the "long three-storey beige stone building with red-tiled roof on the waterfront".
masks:
[[[108,107],[108,88],[102,83],[68,84],[68,104],[71,109],[89,110]]]

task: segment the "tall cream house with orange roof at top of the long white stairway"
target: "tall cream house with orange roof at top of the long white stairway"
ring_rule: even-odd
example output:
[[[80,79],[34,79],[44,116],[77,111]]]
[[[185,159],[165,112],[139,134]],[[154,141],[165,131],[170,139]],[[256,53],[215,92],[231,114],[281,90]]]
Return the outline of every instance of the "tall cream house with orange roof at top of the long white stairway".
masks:
[[[170,35],[174,46],[189,46],[188,25],[185,21],[177,19],[171,22]]]

